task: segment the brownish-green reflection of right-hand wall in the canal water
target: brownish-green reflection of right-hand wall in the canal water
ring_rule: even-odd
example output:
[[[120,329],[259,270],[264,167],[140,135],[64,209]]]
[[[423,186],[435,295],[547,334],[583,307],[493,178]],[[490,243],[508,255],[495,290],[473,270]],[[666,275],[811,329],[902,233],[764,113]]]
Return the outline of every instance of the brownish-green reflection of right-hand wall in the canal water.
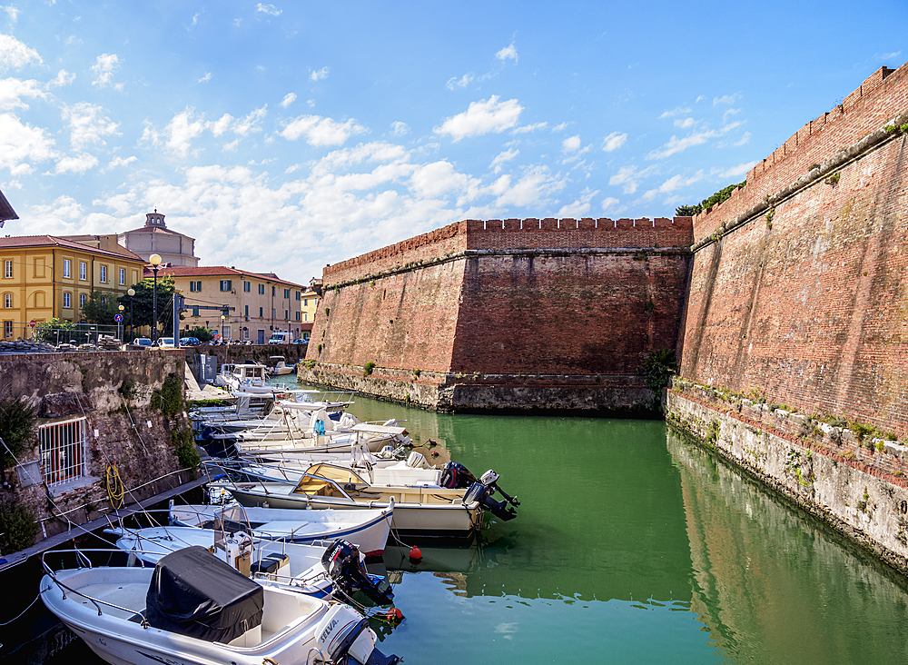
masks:
[[[692,609],[717,649],[745,648],[755,662],[879,662],[875,653],[893,652],[905,588],[882,565],[708,453],[672,435],[668,451],[681,471]]]

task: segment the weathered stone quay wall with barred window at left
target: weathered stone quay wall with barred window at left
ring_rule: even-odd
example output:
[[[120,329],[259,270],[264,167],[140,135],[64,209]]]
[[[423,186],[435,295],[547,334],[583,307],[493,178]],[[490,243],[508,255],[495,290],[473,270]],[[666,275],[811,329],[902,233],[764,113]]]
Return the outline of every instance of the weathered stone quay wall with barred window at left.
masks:
[[[183,385],[183,354],[164,351],[29,353],[0,356],[3,388],[22,394],[43,408],[37,425],[84,417],[87,421],[87,465],[90,478],[50,487],[22,487],[15,469],[6,481],[16,500],[35,512],[38,540],[94,519],[110,508],[104,489],[108,463],[114,463],[127,490],[125,502],[146,499],[190,481],[181,471],[173,434],[191,431],[182,411],[173,417],[153,408],[152,396],[175,375]],[[48,396],[53,395],[53,399]],[[38,437],[26,444],[20,462],[40,460]],[[159,480],[156,480],[159,479]]]

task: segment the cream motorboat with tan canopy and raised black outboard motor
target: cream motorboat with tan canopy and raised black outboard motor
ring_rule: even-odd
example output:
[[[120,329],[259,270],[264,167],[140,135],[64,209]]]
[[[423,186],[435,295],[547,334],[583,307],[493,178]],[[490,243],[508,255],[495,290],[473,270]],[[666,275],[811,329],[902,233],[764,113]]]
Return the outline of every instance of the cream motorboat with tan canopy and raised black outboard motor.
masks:
[[[452,464],[463,468],[449,462],[444,471],[449,471]],[[487,471],[479,481],[469,474],[473,482],[467,487],[459,486],[466,484],[466,476],[460,476],[460,482],[451,472],[441,475],[439,481],[376,484],[349,466],[320,462],[311,466],[295,485],[221,480],[209,487],[229,491],[247,507],[362,510],[386,508],[393,501],[391,529],[404,536],[469,538],[481,527],[485,509],[505,521],[516,516],[513,507],[519,501],[498,488],[495,471]],[[492,499],[494,491],[501,491],[505,501]]]

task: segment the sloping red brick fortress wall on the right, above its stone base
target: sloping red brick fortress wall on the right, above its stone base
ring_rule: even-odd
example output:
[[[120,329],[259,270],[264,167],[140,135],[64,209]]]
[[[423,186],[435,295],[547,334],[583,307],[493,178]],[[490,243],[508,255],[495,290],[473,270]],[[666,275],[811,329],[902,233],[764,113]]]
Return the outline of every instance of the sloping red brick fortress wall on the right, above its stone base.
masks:
[[[698,216],[696,233],[908,111],[906,91],[908,68],[873,74],[841,117],[799,132],[771,155],[775,167],[748,174],[737,200]],[[906,169],[900,136],[845,165],[837,182],[822,178],[777,204],[771,224],[760,215],[697,251],[682,375],[908,432]]]

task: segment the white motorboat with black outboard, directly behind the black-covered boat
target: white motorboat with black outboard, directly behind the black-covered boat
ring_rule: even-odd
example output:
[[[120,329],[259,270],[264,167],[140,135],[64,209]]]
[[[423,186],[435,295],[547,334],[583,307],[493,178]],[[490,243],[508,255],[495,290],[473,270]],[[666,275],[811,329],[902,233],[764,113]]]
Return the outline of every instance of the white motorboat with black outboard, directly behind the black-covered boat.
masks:
[[[118,536],[116,547],[130,555],[128,564],[154,566],[172,551],[199,545],[213,551],[247,577],[270,581],[316,598],[332,600],[335,589],[340,591],[341,599],[350,600],[354,591],[362,591],[380,605],[390,604],[393,597],[390,590],[381,590],[383,580],[370,576],[359,563],[329,571],[325,556],[331,548],[324,544],[268,541],[253,538],[244,531],[180,526],[107,529],[105,532]],[[357,557],[360,556],[359,548],[344,542],[356,550]]]

